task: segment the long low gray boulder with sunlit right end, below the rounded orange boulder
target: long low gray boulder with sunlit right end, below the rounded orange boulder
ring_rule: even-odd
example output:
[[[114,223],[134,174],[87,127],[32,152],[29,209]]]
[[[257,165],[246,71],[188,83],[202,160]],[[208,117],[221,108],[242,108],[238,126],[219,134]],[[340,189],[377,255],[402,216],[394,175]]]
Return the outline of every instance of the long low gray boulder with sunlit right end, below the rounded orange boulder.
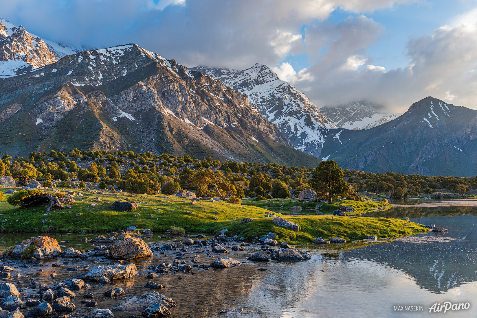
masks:
[[[107,278],[109,281],[128,279],[137,274],[137,268],[134,264],[128,265],[109,265],[109,266],[95,266],[89,270],[83,271],[74,276],[74,279],[83,279],[88,281],[99,281],[102,278]]]

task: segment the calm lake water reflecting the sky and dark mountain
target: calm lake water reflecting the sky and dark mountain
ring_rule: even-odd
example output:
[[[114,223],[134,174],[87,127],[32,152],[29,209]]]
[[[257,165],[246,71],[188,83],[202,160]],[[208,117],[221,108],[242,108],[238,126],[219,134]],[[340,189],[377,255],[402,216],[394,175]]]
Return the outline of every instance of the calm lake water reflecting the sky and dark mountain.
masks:
[[[228,269],[194,269],[196,275],[165,274],[154,279],[166,288],[159,292],[171,297],[177,306],[171,309],[171,317],[265,317],[265,318],[308,318],[308,317],[477,317],[477,237],[475,207],[398,207],[388,210],[371,211],[363,214],[369,217],[408,216],[413,222],[433,223],[449,229],[445,237],[454,240],[448,243],[407,243],[393,241],[355,249],[342,246],[297,246],[311,251],[311,260],[303,262],[262,262],[246,260],[245,253],[253,253],[258,246],[249,246],[245,252],[231,251],[228,256],[246,261],[239,267]],[[7,235],[2,238],[5,246],[14,245],[31,235]],[[418,236],[435,236],[426,233]],[[53,236],[58,241],[69,240],[75,249],[93,248],[80,241],[84,236]],[[94,237],[92,235],[88,236]],[[151,238],[147,241],[160,240]],[[77,245],[76,244],[83,244]],[[162,245],[162,242],[161,242]],[[200,250],[189,248],[190,256]],[[159,255],[151,258],[152,263],[135,264],[140,274],[147,274],[145,268],[151,264],[172,262],[175,255]],[[210,264],[214,257],[201,256],[202,264]],[[187,255],[189,256],[189,255]],[[54,260],[58,263],[60,260]],[[104,263],[111,260],[101,260]],[[189,262],[186,259],[186,264]],[[21,269],[21,279],[14,282],[27,295],[31,291],[29,277],[36,281],[52,284],[52,270],[57,270],[55,280],[74,275],[66,267],[51,267],[53,261],[44,262],[43,267]],[[85,263],[85,264],[83,264]],[[87,262],[71,265],[86,265]],[[8,265],[8,264],[7,264]],[[38,268],[44,272],[38,273]],[[266,268],[260,271],[259,268]],[[181,277],[182,279],[178,279]],[[103,296],[104,291],[113,287],[124,288],[125,297],[140,295],[148,290],[143,286],[150,278],[138,275],[134,279],[117,282],[114,285],[92,286],[78,291],[73,303],[78,307],[75,315],[90,314],[92,309],[80,304],[83,294],[93,293],[97,308],[112,308],[122,301]],[[435,303],[469,303],[466,310],[446,313],[429,313]],[[422,306],[424,311],[395,311],[394,306]],[[241,309],[244,313],[228,312],[219,314],[220,309]],[[115,312],[116,317],[135,315],[141,311]]]

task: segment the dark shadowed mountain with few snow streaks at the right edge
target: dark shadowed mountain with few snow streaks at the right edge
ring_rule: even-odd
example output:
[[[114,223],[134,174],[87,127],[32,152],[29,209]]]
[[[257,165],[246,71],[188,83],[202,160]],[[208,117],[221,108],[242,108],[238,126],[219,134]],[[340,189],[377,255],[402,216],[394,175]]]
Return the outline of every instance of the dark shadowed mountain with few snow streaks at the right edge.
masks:
[[[330,129],[321,155],[350,170],[477,174],[477,111],[426,97],[367,130]]]

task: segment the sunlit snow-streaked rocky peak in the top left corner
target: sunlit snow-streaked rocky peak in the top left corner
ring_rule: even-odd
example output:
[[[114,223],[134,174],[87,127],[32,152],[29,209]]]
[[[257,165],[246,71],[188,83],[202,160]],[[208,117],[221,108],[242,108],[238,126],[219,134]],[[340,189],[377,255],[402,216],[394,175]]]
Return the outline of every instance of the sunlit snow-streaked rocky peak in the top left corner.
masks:
[[[43,40],[23,26],[16,27],[0,18],[0,75],[26,72],[56,61]]]

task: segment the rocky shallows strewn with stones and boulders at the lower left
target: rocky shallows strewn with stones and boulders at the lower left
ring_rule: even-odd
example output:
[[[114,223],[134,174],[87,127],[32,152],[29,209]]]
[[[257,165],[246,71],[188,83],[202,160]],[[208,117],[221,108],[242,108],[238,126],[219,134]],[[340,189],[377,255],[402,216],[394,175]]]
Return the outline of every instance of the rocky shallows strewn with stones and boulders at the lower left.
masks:
[[[122,234],[109,246],[93,243],[90,250],[75,250],[69,244],[61,250],[48,236],[24,240],[4,252],[0,260],[5,282],[0,286],[0,317],[165,317],[173,314],[176,306],[167,296],[170,289],[164,280],[168,275],[181,280],[210,271],[209,275],[215,276],[229,267],[270,258],[311,258],[310,251],[292,248],[286,242],[275,248],[265,242],[249,244],[225,237],[168,236],[166,241],[145,243]],[[25,259],[29,248],[34,256]],[[254,257],[258,253],[263,259]]]

